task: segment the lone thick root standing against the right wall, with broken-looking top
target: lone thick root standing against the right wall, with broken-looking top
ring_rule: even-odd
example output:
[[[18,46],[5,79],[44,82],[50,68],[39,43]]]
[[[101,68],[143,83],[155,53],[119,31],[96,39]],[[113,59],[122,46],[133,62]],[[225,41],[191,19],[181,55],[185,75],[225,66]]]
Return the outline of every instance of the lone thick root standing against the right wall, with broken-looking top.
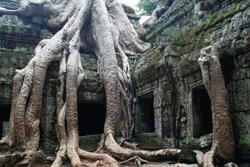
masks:
[[[213,167],[215,157],[225,162],[234,159],[234,134],[229,115],[228,93],[221,69],[219,43],[215,43],[201,50],[198,63],[201,67],[204,86],[209,94],[212,105],[213,117],[213,142],[212,148],[199,158],[204,167]],[[200,156],[201,157],[201,156]]]

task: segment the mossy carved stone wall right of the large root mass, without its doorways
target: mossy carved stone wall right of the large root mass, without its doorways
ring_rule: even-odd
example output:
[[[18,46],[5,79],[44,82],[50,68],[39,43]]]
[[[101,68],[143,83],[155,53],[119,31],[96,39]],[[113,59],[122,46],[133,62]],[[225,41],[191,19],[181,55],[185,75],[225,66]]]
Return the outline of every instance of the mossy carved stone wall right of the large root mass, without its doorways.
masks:
[[[134,60],[136,95],[154,92],[155,134],[175,147],[206,148],[211,144],[209,134],[195,137],[199,115],[194,112],[197,100],[193,91],[203,87],[197,63],[200,50],[221,41],[237,155],[249,160],[249,1],[211,5],[208,1],[175,0],[142,36],[153,46]]]

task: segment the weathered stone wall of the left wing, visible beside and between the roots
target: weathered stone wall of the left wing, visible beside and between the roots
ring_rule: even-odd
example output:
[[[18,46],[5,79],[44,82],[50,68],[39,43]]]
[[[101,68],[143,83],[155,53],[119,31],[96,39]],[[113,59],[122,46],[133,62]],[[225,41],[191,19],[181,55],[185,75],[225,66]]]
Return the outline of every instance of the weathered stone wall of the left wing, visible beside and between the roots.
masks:
[[[17,1],[16,1],[17,2]],[[3,5],[4,4],[4,5]],[[15,8],[14,1],[1,1],[0,6]],[[11,104],[12,79],[16,69],[24,68],[33,56],[37,43],[51,36],[51,32],[43,29],[41,18],[33,18],[34,25],[26,24],[17,16],[0,16],[0,104]],[[103,103],[104,93],[97,92],[100,87],[97,76],[96,57],[82,54],[85,78],[79,88],[79,102]],[[44,88],[43,112],[41,118],[41,149],[47,154],[54,154],[57,146],[55,132],[55,98],[57,85],[58,63],[48,69]]]

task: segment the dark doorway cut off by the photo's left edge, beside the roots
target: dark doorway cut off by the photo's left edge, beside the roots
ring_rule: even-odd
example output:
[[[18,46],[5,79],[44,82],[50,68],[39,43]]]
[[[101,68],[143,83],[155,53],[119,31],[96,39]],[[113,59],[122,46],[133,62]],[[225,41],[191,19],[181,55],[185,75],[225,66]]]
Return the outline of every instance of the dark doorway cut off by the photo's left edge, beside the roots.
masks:
[[[0,105],[0,139],[7,135],[10,120],[10,105]]]

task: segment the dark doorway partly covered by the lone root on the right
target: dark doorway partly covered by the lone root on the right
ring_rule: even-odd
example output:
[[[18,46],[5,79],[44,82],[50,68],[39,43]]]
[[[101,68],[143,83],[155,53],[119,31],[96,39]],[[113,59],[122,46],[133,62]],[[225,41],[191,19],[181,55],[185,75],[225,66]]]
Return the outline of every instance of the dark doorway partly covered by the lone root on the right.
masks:
[[[212,133],[211,100],[206,89],[201,86],[193,89],[193,135],[200,137]]]

